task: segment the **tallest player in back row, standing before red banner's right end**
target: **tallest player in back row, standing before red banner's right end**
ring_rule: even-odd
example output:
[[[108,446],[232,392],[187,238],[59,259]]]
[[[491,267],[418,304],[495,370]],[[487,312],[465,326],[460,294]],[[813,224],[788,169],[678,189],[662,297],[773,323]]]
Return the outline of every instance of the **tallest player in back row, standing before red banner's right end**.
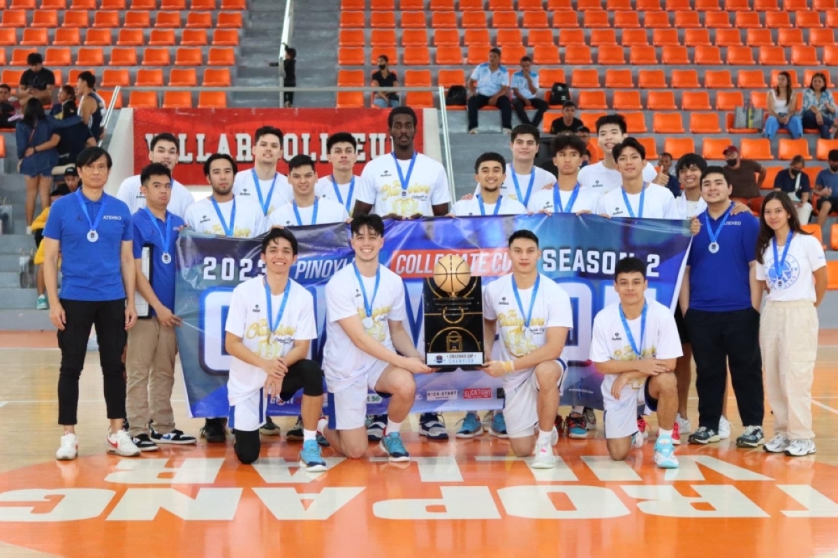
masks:
[[[417,122],[409,106],[390,111],[387,127],[393,151],[366,164],[353,215],[412,219],[448,213],[451,192],[445,168],[413,147]]]

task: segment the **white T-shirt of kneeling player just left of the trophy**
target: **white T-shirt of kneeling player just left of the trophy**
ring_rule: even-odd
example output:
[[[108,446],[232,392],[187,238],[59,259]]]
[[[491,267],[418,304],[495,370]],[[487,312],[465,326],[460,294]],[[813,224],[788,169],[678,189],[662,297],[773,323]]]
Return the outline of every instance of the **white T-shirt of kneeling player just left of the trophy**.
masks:
[[[372,304],[373,325],[366,333],[387,349],[393,350],[388,320],[396,322],[407,318],[405,310],[405,286],[401,277],[385,266],[379,266],[381,278],[378,293],[375,291],[375,277],[362,276],[367,300]],[[344,266],[337,271],[326,285],[326,345],[323,348],[323,372],[331,393],[337,393],[352,385],[370,366],[378,362],[375,357],[356,347],[340,327],[339,320],[358,316],[366,317],[364,295],[361,292],[354,265]]]

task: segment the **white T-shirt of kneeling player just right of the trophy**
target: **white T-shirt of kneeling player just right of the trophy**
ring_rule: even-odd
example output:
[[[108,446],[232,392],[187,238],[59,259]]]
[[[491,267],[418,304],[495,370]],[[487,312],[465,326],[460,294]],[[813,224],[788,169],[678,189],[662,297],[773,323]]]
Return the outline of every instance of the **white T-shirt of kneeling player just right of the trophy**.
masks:
[[[573,328],[570,297],[550,277],[541,274],[540,277],[529,330],[525,328],[524,321],[530,310],[532,287],[518,291],[523,313],[515,300],[511,273],[499,277],[483,289],[484,318],[497,320],[501,360],[519,359],[544,346],[547,328]],[[504,390],[514,390],[533,370],[535,367],[504,375]]]

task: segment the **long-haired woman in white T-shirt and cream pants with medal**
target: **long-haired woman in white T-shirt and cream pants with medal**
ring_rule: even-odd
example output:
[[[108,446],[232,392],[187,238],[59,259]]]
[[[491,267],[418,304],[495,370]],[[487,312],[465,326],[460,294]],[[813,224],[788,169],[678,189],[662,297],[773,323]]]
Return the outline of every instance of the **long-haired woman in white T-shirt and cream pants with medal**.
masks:
[[[813,282],[814,277],[814,282]],[[800,229],[789,195],[763,201],[757,241],[757,279],[768,291],[759,325],[774,437],[766,452],[801,457],[815,453],[812,379],[818,351],[818,313],[826,292],[820,241]]]

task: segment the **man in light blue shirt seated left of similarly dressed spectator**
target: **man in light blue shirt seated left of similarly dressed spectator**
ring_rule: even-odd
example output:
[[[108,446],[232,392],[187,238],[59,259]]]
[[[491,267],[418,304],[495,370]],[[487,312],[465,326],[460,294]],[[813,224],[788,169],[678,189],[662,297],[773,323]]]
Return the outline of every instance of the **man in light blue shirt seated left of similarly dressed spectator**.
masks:
[[[500,127],[504,134],[512,133],[512,104],[507,93],[510,75],[500,65],[500,49],[489,50],[489,62],[478,65],[468,79],[468,133],[476,134],[477,112],[486,105],[500,110]]]

